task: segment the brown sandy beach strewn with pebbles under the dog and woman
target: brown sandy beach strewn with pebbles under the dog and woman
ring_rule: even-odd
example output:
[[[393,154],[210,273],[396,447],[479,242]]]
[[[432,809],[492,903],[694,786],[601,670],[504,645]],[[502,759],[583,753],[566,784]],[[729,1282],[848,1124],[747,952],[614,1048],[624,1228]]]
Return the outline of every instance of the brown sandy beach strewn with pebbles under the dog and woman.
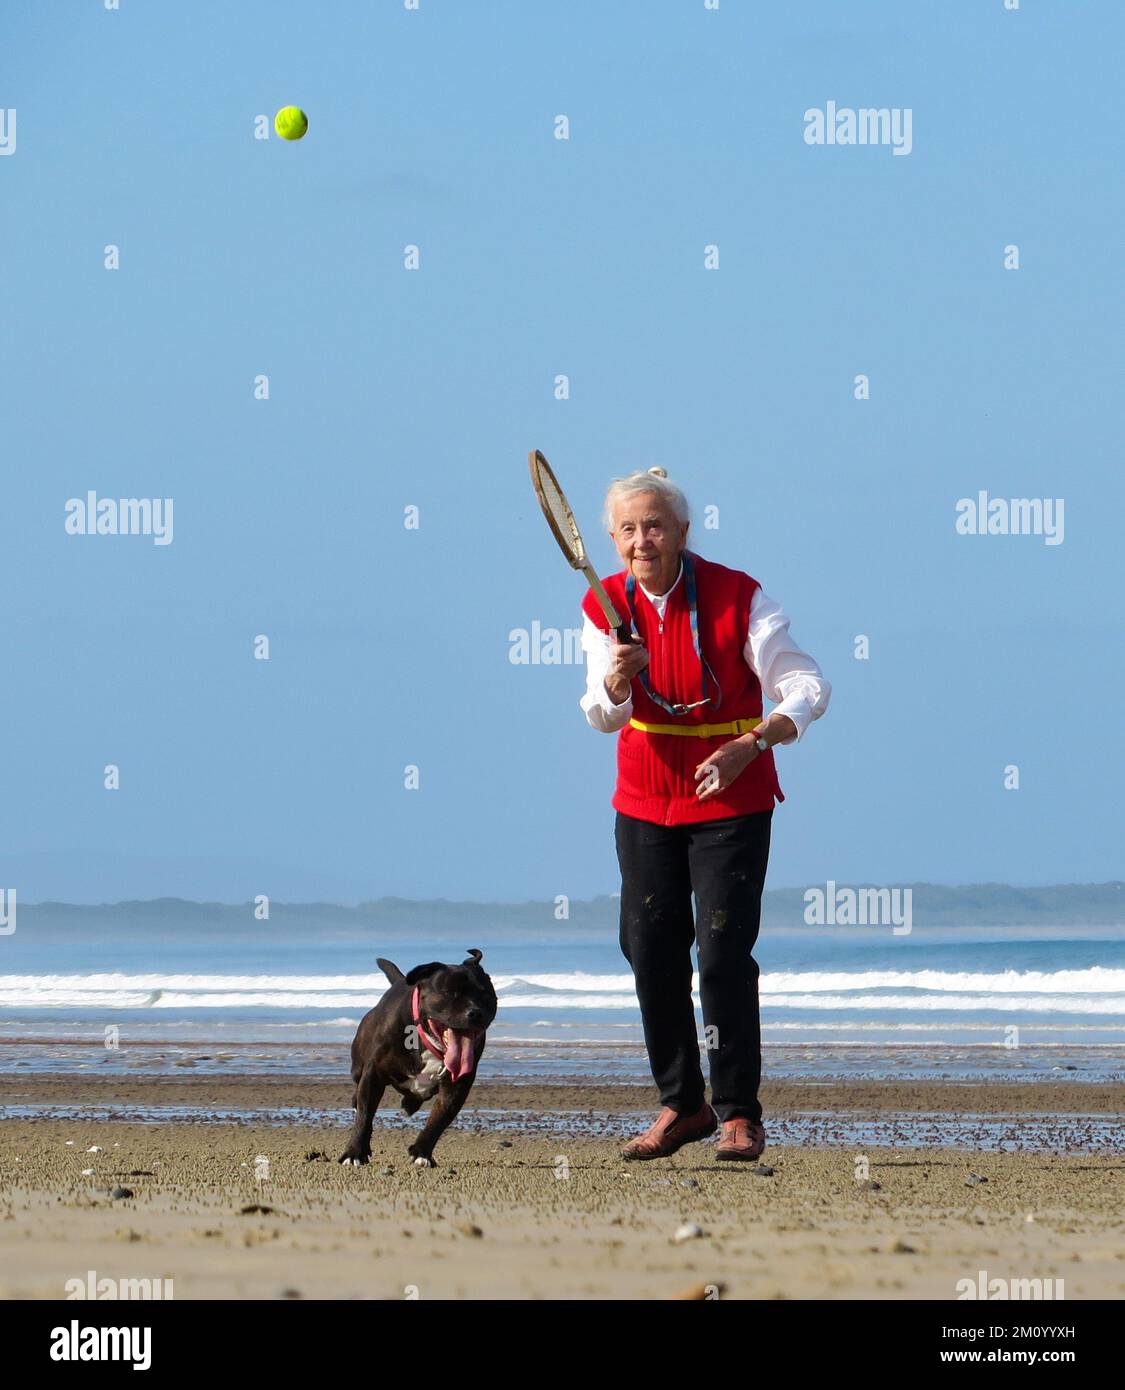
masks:
[[[1067,1300],[1125,1294],[1121,1158],[1043,1145],[1050,1118],[1115,1126],[1119,1086],[780,1083],[763,1088],[770,1133],[815,1113],[823,1143],[725,1165],[711,1144],[620,1161],[620,1136],[655,1113],[649,1087],[481,1083],[430,1170],[405,1154],[417,1119],[394,1111],[371,1165],[339,1168],[342,1090],[0,1079],[6,1115],[35,1112],[0,1125],[0,1297],[61,1298],[89,1270],[170,1279],[177,1300],[954,1300],[982,1270],[1062,1280]],[[946,1147],[943,1115],[961,1136],[973,1116],[1039,1147]],[[859,1122],[882,1141],[851,1144]]]

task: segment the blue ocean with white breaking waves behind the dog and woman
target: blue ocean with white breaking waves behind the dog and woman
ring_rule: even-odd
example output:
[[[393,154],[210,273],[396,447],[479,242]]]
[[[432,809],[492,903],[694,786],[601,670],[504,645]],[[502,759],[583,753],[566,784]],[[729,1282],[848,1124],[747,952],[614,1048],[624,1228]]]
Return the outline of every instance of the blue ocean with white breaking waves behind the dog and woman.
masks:
[[[0,940],[4,1072],[346,1076],[387,988],[375,956],[409,970],[476,945],[499,998],[483,1079],[648,1079],[612,924],[489,941],[480,922],[217,930],[128,909]],[[1125,1079],[1121,927],[763,927],[755,956],[766,1077]]]

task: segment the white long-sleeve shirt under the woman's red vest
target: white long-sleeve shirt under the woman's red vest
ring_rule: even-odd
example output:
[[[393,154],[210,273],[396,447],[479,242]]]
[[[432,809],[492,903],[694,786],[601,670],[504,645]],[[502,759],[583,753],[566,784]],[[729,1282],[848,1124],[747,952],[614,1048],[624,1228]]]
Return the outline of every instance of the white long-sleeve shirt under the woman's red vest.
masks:
[[[683,574],[681,560],[676,584],[680,582]],[[649,594],[642,584],[638,585],[656,609],[656,616],[661,620],[663,620],[665,605],[676,584],[667,594]],[[610,648],[615,642],[616,637],[612,632],[604,632],[583,613],[585,695],[578,701],[578,705],[584,710],[590,727],[597,728],[601,734],[616,734],[633,716],[631,688],[620,705],[613,703],[605,688]],[[750,624],[743,659],[758,677],[766,699],[775,701],[770,713],[787,714],[797,728],[795,738],[783,738],[782,742],[797,742],[808,726],[829,708],[832,685],[825,680],[820,667],[808,652],[802,652],[794,642],[788,630],[788,617],[782,605],[769,598],[761,587],[754,591],[754,599],[750,605]]]

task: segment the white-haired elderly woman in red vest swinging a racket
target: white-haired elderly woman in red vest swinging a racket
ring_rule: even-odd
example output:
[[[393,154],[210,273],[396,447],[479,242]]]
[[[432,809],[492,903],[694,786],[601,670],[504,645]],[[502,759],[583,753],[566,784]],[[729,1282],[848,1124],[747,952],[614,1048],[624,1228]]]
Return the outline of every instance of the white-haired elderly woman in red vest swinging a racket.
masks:
[[[784,801],[773,745],[795,742],[825,713],[830,687],[756,580],[686,548],[687,500],[663,468],[615,480],[605,523],[624,570],[602,582],[634,639],[619,642],[585,595],[580,703],[592,728],[620,730],[620,944],[662,1105],[622,1156],[665,1158],[722,1120],[716,1156],[755,1159],[766,1134],[752,951],[773,803]],[[763,694],[776,702],[766,717]],[[693,942],[711,1105],[691,1002]]]

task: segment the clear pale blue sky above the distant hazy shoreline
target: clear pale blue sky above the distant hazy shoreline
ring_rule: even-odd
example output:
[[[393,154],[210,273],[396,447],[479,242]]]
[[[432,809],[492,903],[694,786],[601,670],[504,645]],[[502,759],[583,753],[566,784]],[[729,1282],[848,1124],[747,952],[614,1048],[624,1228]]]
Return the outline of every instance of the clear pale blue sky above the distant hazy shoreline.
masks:
[[[1108,0],[8,0],[3,884],[616,890],[583,671],[509,660],[580,623],[530,448],[604,574],[606,482],[663,464],[832,680],[772,887],[1121,877],[1124,38]],[[908,107],[909,156],[807,145],[829,100]],[[90,489],[172,498],[172,543],[67,535]],[[980,489],[1062,498],[1064,543],[957,535]]]

